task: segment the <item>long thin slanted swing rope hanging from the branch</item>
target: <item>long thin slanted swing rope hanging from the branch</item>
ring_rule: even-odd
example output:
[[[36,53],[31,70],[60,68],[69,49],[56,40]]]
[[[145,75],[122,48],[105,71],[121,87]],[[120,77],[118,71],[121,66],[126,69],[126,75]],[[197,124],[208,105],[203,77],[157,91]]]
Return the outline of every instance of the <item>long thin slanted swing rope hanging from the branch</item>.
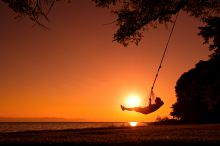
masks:
[[[169,45],[171,36],[172,36],[172,34],[173,34],[174,27],[175,27],[175,25],[176,25],[176,20],[177,20],[177,18],[178,18],[178,14],[179,14],[179,13],[176,14],[176,18],[175,18],[175,20],[174,20],[174,22],[173,22],[173,27],[172,27],[172,29],[171,29],[171,31],[170,31],[169,38],[168,38],[168,40],[167,40],[167,43],[166,43],[166,46],[165,46],[165,49],[164,49],[162,58],[161,58],[161,60],[160,60],[159,67],[158,67],[158,69],[157,69],[157,72],[156,72],[156,76],[155,76],[155,78],[154,78],[153,85],[152,85],[152,87],[151,87],[150,97],[149,97],[149,98],[151,98],[152,96],[154,96],[154,95],[153,95],[153,94],[154,94],[154,93],[153,93],[154,85],[155,85],[155,83],[156,83],[156,80],[157,80],[159,71],[160,71],[160,69],[161,69],[161,67],[162,67],[162,63],[163,63],[164,57],[165,57],[165,55],[166,55],[167,48],[168,48],[168,45]]]

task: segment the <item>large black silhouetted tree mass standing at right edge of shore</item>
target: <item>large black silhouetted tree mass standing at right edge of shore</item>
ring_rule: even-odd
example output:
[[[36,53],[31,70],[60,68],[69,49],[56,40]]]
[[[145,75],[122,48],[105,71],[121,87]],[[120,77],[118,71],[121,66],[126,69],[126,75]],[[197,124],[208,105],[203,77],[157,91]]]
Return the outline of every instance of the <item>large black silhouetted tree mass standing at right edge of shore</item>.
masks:
[[[205,22],[199,34],[214,52],[208,61],[200,61],[184,73],[175,87],[177,102],[171,115],[185,122],[220,122],[220,18]]]

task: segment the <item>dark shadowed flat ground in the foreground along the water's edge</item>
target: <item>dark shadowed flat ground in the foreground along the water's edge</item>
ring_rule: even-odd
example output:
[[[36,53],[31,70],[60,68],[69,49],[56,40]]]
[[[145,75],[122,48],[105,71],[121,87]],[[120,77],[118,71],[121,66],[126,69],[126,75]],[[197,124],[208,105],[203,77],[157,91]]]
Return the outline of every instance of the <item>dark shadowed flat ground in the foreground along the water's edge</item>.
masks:
[[[0,133],[0,144],[220,145],[220,124]]]

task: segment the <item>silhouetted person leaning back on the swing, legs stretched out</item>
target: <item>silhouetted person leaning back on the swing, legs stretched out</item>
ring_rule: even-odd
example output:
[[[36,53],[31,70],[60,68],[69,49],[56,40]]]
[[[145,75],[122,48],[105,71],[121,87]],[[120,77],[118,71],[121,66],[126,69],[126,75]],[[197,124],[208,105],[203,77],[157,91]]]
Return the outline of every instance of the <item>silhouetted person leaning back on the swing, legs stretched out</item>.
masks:
[[[160,97],[156,97],[155,104],[151,104],[151,98],[149,98],[149,105],[146,106],[146,107],[127,108],[127,107],[121,105],[121,109],[123,111],[127,110],[127,111],[139,112],[139,113],[142,113],[142,114],[149,114],[149,113],[152,113],[152,112],[158,110],[163,104],[164,104],[164,102],[160,99]]]

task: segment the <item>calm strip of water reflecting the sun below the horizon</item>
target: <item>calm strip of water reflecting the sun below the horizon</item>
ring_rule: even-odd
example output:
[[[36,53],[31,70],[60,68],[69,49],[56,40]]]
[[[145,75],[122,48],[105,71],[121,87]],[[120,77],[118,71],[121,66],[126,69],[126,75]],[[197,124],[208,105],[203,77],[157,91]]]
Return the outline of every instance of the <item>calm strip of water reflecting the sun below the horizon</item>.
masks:
[[[0,133],[146,125],[147,123],[144,122],[136,124],[129,122],[0,122]]]

